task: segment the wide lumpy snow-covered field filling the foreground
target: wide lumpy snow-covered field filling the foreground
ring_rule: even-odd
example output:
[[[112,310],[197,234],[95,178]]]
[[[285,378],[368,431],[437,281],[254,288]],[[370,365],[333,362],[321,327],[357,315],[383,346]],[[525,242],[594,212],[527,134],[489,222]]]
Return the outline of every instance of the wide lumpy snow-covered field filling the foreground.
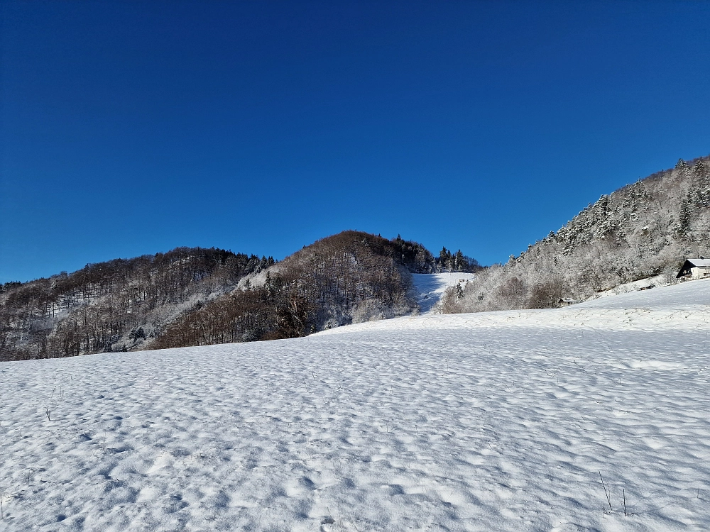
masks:
[[[706,531],[709,303],[6,362],[0,531]]]

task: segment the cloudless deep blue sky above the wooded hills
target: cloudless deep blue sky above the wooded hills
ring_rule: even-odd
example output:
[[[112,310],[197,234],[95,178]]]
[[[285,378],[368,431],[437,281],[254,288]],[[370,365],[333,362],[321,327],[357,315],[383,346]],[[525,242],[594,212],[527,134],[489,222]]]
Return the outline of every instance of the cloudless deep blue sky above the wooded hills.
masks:
[[[491,264],[710,153],[708,2],[0,13],[0,282],[344,229]]]

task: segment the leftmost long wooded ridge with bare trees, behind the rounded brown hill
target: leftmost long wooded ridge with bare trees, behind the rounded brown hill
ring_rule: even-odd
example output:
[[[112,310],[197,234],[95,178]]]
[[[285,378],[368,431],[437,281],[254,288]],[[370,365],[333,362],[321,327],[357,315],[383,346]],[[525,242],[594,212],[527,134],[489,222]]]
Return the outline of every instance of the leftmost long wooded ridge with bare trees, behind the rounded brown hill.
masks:
[[[273,264],[271,257],[177,248],[6,283],[0,292],[0,360],[139,348],[197,301],[218,297]]]

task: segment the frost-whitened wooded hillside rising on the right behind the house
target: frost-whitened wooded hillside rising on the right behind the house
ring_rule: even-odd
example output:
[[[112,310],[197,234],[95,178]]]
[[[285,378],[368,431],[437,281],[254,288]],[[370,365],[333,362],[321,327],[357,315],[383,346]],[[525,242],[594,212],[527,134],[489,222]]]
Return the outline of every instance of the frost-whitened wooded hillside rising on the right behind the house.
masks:
[[[444,311],[544,308],[636,279],[672,279],[684,257],[710,256],[710,160],[679,160],[601,196],[557,233],[487,268]]]

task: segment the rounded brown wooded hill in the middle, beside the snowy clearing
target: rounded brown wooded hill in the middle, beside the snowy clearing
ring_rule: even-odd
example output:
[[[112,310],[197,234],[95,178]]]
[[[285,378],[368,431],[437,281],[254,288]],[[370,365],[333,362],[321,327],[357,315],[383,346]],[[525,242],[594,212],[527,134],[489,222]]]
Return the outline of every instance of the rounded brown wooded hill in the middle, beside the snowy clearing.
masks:
[[[182,314],[153,348],[306,336],[324,328],[417,310],[410,272],[480,269],[448,252],[435,258],[399,236],[344,231],[286,257],[239,289]]]

